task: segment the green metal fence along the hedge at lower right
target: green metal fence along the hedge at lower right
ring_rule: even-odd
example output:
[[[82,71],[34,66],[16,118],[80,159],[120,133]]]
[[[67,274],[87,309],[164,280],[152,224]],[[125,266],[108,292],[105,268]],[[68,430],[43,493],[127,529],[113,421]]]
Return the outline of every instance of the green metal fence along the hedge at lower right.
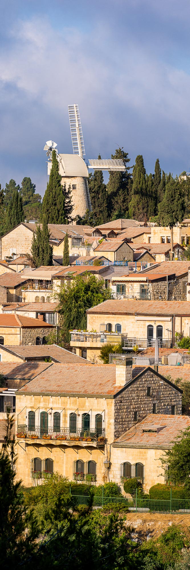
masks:
[[[88,506],[89,495],[74,495],[72,496],[72,504],[75,507],[80,505]],[[107,497],[104,496],[104,487],[102,488],[102,496],[94,496],[93,508],[101,508],[107,505],[122,504],[122,506],[129,508],[131,512],[158,512],[160,514],[177,514],[190,512],[190,499],[172,499],[172,488],[170,499],[143,499],[139,498],[136,491],[134,499],[126,498],[123,496]]]

